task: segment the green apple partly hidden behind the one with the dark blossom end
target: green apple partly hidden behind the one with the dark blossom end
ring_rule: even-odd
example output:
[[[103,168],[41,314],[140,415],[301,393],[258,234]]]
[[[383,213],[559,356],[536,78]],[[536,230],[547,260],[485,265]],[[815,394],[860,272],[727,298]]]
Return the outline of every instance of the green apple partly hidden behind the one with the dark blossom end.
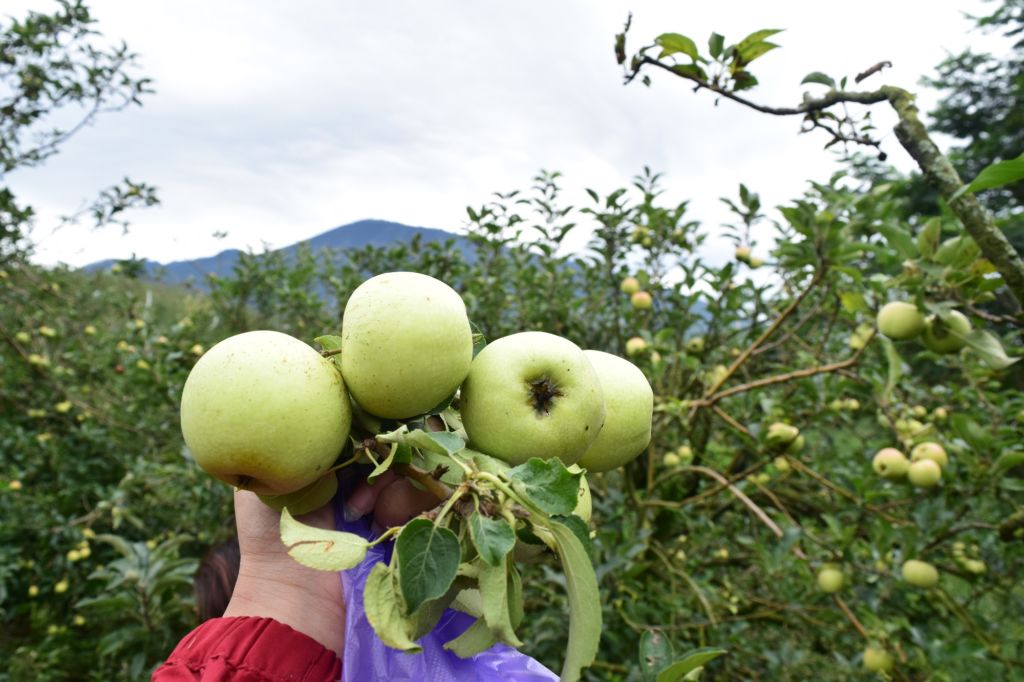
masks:
[[[654,391],[635,365],[600,350],[585,350],[597,372],[607,414],[597,438],[580,459],[588,471],[610,471],[632,461],[650,442]]]

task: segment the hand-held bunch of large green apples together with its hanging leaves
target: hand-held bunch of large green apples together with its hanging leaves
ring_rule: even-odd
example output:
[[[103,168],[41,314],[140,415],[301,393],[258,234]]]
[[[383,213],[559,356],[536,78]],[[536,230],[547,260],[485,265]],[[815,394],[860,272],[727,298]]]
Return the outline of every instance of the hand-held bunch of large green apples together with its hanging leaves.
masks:
[[[513,334],[473,358],[470,330],[447,285],[378,275],[353,292],[341,336],[316,339],[322,353],[276,332],[211,348],[185,383],[182,432],[207,471],[281,510],[282,541],[304,565],[351,568],[394,541],[364,593],[392,648],[418,651],[447,607],[477,619],[447,642],[456,654],[520,646],[515,559],[551,548],[569,602],[561,679],[579,680],[597,654],[601,599],[590,487],[568,465],[607,471],[643,452],[652,391],[629,361],[552,334]],[[373,540],[295,519],[329,502],[334,471],[353,464],[369,465],[371,483],[408,477],[436,507]]]

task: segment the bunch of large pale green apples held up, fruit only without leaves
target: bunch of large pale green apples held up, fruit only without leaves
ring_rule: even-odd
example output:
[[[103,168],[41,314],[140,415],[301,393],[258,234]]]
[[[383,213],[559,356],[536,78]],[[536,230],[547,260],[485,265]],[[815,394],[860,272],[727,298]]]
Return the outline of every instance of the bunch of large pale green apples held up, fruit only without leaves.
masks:
[[[333,497],[325,473],[353,414],[401,422],[451,403],[469,445],[512,465],[558,458],[608,471],[650,441],[653,393],[634,365],[544,332],[498,339],[474,357],[462,298],[424,274],[388,272],[356,288],[340,345],[330,351],[340,361],[272,331],[211,348],[181,396],[197,463],[301,513],[296,503],[315,508]]]

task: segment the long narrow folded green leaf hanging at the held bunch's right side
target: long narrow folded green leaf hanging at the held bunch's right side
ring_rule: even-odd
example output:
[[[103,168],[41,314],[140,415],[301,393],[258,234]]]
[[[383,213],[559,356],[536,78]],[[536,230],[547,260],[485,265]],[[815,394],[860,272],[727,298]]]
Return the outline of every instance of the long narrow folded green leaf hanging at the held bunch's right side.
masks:
[[[594,566],[575,534],[557,521],[551,524],[551,532],[569,598],[569,640],[561,676],[569,682],[579,680],[583,669],[597,655],[601,641],[601,594]]]

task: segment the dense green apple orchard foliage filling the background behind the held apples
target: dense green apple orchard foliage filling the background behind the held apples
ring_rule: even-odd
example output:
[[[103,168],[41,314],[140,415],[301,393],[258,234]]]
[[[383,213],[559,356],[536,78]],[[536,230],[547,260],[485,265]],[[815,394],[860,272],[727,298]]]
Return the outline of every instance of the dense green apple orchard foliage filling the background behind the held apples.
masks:
[[[769,37],[713,36],[698,52],[667,34],[652,53],[743,91]],[[706,665],[714,679],[872,679],[865,664],[891,664],[892,679],[1019,678],[1020,316],[951,212],[907,213],[905,182],[839,172],[771,218],[750,178],[723,200],[726,239],[749,251],[724,263],[700,255],[710,230],[646,169],[579,206],[541,173],[467,209],[470,249],[249,254],[204,292],[138,281],[130,263],[40,268],[13,249],[0,270],[0,680],[138,679],[195,626],[190,573],[230,531],[230,495],[182,450],[185,376],[233,333],[337,334],[349,294],[390,270],[450,284],[488,340],[540,330],[624,356],[645,342],[630,357],[654,388],[652,443],[589,476],[604,630],[585,679]],[[575,233],[589,242],[569,253]],[[622,291],[628,276],[649,309]],[[890,301],[967,315],[967,347],[877,334]],[[937,486],[872,469],[880,450],[909,457],[922,441],[948,454]],[[907,582],[910,560],[938,585]],[[842,574],[829,592],[826,568]],[[550,557],[521,570],[517,635],[557,670],[564,577]]]

